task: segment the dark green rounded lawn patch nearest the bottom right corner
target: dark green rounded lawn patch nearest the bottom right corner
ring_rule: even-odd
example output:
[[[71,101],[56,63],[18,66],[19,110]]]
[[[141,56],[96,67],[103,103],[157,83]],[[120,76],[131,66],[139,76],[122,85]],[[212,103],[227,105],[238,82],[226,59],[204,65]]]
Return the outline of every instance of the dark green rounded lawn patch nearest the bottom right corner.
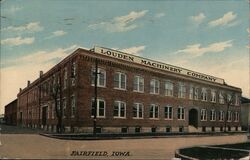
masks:
[[[198,159],[240,159],[248,156],[248,152],[229,151],[203,147],[180,149],[180,154]]]

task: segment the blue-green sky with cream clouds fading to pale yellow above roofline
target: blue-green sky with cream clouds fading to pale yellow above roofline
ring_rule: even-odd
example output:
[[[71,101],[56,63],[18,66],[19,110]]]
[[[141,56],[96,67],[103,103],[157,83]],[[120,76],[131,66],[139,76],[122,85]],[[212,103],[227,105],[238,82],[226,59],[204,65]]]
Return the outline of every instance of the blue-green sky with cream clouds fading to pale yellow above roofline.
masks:
[[[250,97],[248,0],[2,0],[0,5],[0,114],[40,70],[95,45],[223,78]]]

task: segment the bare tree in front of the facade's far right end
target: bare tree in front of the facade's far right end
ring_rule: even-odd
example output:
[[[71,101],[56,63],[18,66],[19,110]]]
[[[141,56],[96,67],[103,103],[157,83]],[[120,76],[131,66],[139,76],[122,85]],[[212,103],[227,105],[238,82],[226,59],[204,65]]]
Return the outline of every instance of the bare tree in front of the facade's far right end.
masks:
[[[220,96],[222,96],[221,98],[223,98],[224,103],[226,104],[226,117],[224,119],[224,132],[227,132],[227,120],[228,120],[228,111],[230,109],[230,106],[232,106],[235,103],[235,93],[221,93]],[[231,114],[231,113],[230,113]]]

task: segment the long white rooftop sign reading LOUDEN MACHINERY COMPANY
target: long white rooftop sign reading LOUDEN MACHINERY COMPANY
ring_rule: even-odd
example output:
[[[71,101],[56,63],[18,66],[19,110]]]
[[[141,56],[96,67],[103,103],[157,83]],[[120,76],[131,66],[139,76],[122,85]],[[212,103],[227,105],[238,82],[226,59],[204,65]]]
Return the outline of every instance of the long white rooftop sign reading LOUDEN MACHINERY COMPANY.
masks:
[[[173,72],[173,73],[177,73],[177,74],[181,74],[181,75],[185,75],[185,76],[189,76],[189,77],[194,77],[197,79],[202,79],[202,80],[206,80],[206,81],[210,81],[210,82],[224,84],[224,80],[221,78],[205,75],[202,73],[194,72],[194,71],[187,70],[184,68],[180,68],[180,67],[172,66],[169,64],[149,60],[146,58],[134,56],[131,54],[127,54],[124,52],[120,52],[120,51],[116,51],[116,50],[112,50],[112,49],[108,49],[108,48],[95,46],[94,52],[98,53],[98,54],[106,55],[109,57],[113,57],[113,58],[122,59],[122,60],[129,61],[129,62],[141,64],[144,66],[157,68],[157,69],[164,70],[164,71],[169,71],[169,72]]]

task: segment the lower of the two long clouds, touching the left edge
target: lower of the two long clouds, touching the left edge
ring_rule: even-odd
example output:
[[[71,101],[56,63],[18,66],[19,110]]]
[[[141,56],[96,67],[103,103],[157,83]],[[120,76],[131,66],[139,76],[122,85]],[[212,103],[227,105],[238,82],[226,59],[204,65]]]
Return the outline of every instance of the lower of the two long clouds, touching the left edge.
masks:
[[[27,37],[27,38],[22,38],[22,37],[15,37],[15,38],[7,38],[4,40],[1,40],[2,45],[10,45],[10,46],[19,46],[23,44],[32,44],[34,42],[35,38],[34,37]]]

